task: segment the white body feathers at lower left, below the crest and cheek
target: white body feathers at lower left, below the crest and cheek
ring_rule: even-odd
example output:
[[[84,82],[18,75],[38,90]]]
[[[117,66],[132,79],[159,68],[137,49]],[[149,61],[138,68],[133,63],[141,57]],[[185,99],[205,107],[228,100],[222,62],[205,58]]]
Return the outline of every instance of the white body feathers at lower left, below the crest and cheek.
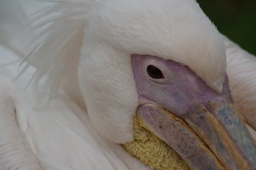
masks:
[[[0,51],[0,64],[18,58],[4,48]],[[99,136],[87,113],[64,94],[48,107],[33,110],[31,88],[23,88],[35,68],[29,67],[22,79],[12,82],[21,69],[18,63],[0,68],[0,89],[5,89],[0,91],[1,170],[149,170],[121,146]]]

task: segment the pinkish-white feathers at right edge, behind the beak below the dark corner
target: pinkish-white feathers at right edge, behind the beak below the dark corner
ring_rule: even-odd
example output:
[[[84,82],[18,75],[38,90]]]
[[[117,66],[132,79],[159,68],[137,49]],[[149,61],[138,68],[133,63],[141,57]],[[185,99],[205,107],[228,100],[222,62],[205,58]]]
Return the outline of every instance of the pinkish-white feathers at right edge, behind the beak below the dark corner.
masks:
[[[223,37],[227,46],[227,74],[233,98],[245,122],[256,130],[256,57]]]

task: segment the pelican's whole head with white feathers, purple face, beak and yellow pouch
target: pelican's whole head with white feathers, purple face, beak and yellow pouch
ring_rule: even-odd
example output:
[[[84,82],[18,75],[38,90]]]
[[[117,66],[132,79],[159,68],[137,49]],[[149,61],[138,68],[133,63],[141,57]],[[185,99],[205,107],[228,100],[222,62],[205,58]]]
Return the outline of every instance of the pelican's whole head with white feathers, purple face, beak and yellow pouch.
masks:
[[[198,3],[92,1],[54,1],[51,10],[65,7],[66,15],[49,27],[40,54],[59,45],[59,56],[75,56],[68,37],[54,35],[82,32],[79,88],[99,133],[154,170],[255,170],[256,143],[230,92],[224,40]],[[42,52],[47,43],[55,46]]]

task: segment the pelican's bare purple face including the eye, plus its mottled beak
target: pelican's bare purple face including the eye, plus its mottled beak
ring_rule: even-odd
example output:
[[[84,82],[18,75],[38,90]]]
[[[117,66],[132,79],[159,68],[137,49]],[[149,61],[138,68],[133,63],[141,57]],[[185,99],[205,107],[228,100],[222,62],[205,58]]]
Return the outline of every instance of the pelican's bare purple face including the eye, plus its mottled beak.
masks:
[[[218,94],[189,67],[172,60],[134,54],[132,64],[140,116],[195,170],[256,169],[256,143],[233,106],[227,74]],[[217,166],[216,157],[204,150],[195,133],[186,132],[162,108],[185,121],[222,165]]]

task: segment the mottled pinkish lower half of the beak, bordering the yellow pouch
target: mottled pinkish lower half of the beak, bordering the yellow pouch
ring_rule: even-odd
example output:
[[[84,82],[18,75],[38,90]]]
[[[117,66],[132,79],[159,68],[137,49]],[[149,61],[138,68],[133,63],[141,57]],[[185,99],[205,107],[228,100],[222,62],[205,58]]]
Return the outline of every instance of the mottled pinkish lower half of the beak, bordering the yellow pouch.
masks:
[[[137,116],[145,129],[171,146],[195,170],[225,170],[204,142],[178,116],[153,104],[141,105]]]

